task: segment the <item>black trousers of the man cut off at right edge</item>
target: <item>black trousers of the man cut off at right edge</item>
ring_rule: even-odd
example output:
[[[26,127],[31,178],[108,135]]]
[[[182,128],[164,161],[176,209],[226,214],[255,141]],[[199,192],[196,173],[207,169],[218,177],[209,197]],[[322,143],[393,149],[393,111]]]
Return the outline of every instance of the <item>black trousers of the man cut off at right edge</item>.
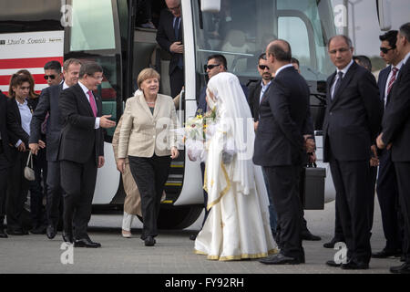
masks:
[[[410,162],[395,162],[395,174],[399,191],[399,203],[405,222],[403,254],[410,264]]]

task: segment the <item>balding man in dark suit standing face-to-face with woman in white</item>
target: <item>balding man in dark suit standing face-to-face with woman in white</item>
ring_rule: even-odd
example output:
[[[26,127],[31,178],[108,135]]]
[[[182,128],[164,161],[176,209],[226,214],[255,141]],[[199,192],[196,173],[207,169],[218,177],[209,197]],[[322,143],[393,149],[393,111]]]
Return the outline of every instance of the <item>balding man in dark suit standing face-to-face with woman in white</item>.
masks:
[[[304,263],[302,203],[299,179],[305,152],[303,128],[309,116],[309,87],[291,64],[288,42],[278,39],[266,48],[272,85],[261,100],[253,162],[263,166],[281,226],[281,252],[261,263]]]

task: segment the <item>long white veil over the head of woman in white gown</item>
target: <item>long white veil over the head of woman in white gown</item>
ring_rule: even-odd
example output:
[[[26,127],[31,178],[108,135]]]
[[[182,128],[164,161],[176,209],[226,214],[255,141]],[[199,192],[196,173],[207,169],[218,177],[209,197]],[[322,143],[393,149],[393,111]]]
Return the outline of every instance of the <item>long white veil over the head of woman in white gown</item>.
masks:
[[[238,183],[237,191],[248,194],[255,185],[254,165],[251,161],[255,133],[248,101],[239,79],[228,72],[210,78],[208,89],[213,93],[217,103],[217,128],[226,131],[227,134],[224,148],[230,151],[233,145],[233,151],[236,152],[231,180]]]

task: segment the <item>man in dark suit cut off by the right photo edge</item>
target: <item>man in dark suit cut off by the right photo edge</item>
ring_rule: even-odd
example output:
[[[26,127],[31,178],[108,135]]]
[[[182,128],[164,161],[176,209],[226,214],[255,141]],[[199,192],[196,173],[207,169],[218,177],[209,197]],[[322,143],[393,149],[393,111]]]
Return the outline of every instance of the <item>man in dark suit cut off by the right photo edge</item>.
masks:
[[[392,273],[410,274],[410,23],[400,26],[395,43],[397,52],[403,59],[395,84],[387,100],[383,117],[383,130],[377,137],[377,147],[392,149],[392,161],[399,192],[399,202],[405,221],[405,263],[392,266]]]

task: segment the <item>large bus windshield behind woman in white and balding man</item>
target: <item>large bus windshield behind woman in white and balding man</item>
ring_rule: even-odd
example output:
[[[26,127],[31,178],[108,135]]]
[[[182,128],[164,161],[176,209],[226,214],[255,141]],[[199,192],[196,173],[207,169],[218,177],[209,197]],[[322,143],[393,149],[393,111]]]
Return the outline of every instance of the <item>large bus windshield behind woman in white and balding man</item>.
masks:
[[[208,56],[222,54],[242,82],[258,79],[258,57],[275,38],[291,44],[306,80],[326,80],[333,70],[326,49],[335,35],[330,0],[221,0],[219,13],[201,13],[193,3],[197,73],[205,73]]]

